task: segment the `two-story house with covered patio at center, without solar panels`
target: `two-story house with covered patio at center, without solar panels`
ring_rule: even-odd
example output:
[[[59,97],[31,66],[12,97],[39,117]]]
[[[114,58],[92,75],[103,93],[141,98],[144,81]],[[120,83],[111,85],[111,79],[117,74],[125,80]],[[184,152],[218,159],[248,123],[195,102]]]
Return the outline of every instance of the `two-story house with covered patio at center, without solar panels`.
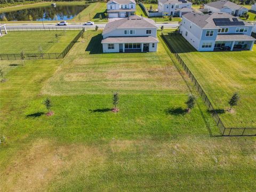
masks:
[[[154,20],[138,15],[108,22],[102,32],[103,53],[156,52],[156,31]]]

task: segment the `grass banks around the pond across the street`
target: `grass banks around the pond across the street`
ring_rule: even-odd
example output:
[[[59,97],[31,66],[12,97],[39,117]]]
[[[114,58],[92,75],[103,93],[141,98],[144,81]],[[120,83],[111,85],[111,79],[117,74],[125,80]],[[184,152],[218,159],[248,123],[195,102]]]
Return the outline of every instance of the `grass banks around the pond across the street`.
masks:
[[[35,4],[27,4],[27,5],[18,5],[18,6],[11,6],[11,7],[5,7],[0,10],[0,13],[3,12],[10,12],[10,11],[17,11],[21,9],[31,9],[31,8],[37,8],[42,6],[49,6],[53,2],[43,2],[43,3],[35,3]],[[85,2],[55,2],[58,5],[85,5]],[[71,22],[87,22],[91,19],[91,21],[94,22],[107,22],[107,18],[105,16],[106,11],[106,3],[105,2],[96,2],[96,3],[90,3],[86,9],[84,9],[82,12],[76,15],[73,19],[68,20],[69,23]],[[99,19],[99,15],[101,14],[102,19]],[[81,16],[79,20],[79,15]],[[52,22],[59,22],[59,21],[44,21],[45,23],[52,23]],[[1,21],[1,23],[38,23],[38,21]]]

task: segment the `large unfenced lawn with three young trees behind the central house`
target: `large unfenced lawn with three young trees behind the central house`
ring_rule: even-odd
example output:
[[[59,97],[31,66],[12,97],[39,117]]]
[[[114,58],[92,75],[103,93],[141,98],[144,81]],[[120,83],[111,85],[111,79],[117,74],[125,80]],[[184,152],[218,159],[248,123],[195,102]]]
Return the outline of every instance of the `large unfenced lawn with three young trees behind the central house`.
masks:
[[[0,62],[1,191],[254,190],[255,139],[209,137],[199,98],[186,113],[195,90],[161,37],[155,53],[103,54],[100,32],[63,60]]]

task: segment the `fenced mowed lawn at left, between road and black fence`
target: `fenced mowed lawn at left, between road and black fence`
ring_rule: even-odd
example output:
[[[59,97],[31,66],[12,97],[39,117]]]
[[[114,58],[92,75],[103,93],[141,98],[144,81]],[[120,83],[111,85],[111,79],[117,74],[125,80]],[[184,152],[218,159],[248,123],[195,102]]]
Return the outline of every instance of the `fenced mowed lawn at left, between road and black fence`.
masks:
[[[0,38],[0,54],[60,53],[78,34],[78,30],[9,31]],[[55,35],[58,34],[58,38]]]

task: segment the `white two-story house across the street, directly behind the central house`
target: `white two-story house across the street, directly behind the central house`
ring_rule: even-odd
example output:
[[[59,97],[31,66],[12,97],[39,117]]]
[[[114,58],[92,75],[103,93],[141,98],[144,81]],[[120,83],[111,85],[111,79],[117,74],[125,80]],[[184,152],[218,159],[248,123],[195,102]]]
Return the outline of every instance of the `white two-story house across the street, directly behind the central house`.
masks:
[[[136,2],[134,0],[110,0],[107,3],[108,18],[125,18],[134,15]]]

